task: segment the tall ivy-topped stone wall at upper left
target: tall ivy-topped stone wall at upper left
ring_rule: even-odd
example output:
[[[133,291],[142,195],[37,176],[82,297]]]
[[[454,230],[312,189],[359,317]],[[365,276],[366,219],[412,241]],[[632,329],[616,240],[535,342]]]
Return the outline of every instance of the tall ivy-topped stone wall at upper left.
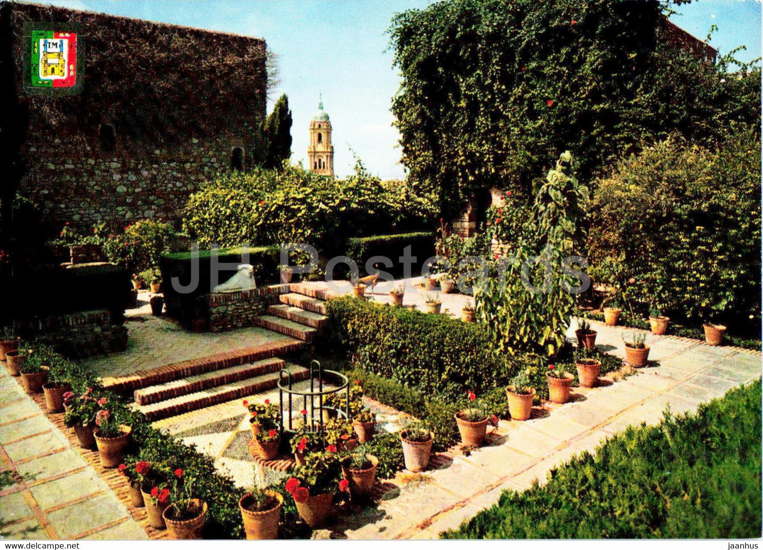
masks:
[[[82,27],[79,95],[24,92],[25,21]],[[0,75],[13,83],[3,105],[26,112],[14,128],[26,131],[24,174],[5,192],[18,188],[51,226],[176,222],[201,182],[262,162],[264,40],[17,2],[2,2],[0,27]]]

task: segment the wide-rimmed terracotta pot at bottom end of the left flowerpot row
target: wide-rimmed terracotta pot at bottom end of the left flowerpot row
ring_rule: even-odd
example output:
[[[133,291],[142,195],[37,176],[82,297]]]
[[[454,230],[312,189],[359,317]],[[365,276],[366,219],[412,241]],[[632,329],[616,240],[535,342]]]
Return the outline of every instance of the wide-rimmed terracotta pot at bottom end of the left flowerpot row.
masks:
[[[172,477],[172,503],[162,513],[167,532],[172,539],[201,539],[201,529],[204,529],[208,506],[204,500],[193,496],[194,481],[195,478],[182,468],[177,468]]]

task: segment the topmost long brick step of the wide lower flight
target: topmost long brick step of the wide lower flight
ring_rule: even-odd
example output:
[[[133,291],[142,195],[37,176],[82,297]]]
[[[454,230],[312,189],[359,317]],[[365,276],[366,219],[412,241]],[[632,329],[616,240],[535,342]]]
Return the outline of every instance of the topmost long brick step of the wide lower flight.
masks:
[[[179,378],[197,376],[204,372],[217,371],[221,368],[230,368],[238,365],[246,365],[262,359],[272,357],[284,357],[305,346],[304,341],[294,338],[282,338],[273,342],[233,349],[230,352],[220,352],[197,359],[188,359],[152,368],[146,371],[136,371],[132,375],[118,378],[103,378],[101,382],[104,388],[121,394],[132,394],[140,388],[165,384]]]

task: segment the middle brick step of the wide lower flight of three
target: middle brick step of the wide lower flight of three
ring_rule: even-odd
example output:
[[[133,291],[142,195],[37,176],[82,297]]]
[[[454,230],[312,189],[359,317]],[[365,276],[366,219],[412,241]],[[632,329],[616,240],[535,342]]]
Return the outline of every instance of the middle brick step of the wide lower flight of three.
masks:
[[[156,384],[156,386],[136,390],[134,394],[135,402],[139,405],[158,403],[159,401],[172,399],[172,397],[193,394],[197,391],[214,388],[215,386],[266,375],[269,372],[278,372],[285,365],[286,362],[283,359],[274,357],[272,359],[262,359],[261,361],[247,363],[246,365],[204,372],[201,375],[178,378],[164,384]]]

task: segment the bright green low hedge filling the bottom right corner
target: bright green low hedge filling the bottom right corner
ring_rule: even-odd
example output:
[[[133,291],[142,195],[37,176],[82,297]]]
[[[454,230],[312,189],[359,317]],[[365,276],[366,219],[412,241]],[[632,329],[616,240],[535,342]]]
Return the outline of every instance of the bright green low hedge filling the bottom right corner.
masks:
[[[501,494],[446,539],[754,539],[761,536],[761,382],[629,427]]]

